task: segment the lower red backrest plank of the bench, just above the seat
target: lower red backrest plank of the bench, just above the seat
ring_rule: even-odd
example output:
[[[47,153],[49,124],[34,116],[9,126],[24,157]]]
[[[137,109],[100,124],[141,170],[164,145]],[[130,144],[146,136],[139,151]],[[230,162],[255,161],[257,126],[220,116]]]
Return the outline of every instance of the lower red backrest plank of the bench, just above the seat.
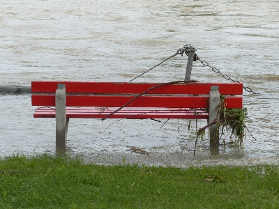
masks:
[[[122,107],[135,96],[123,95],[67,95],[67,107]],[[226,98],[227,108],[241,108],[241,97]],[[33,106],[55,106],[54,95],[32,95]],[[206,108],[208,107],[206,96],[141,96],[126,107],[184,107],[184,108]]]

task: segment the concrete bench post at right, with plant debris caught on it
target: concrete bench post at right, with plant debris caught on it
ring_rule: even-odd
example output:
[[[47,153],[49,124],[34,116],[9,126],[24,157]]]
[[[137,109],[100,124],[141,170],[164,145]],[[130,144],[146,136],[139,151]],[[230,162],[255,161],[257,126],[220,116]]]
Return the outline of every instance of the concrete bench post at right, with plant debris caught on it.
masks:
[[[211,123],[215,118],[220,119],[218,110],[220,108],[220,93],[218,86],[211,86],[211,91],[209,93],[209,120],[208,124]],[[209,127],[209,137],[210,137],[210,146],[216,147],[219,146],[219,130],[217,124],[211,125]]]

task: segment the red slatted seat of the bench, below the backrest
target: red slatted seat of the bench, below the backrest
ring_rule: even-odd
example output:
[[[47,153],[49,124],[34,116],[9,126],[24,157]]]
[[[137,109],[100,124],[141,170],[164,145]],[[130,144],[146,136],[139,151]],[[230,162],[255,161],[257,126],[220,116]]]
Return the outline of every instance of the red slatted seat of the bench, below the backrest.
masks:
[[[104,112],[98,111],[96,108],[67,108],[67,118],[105,118],[115,109],[106,109]],[[55,118],[55,109],[38,108],[34,114],[35,118]],[[148,118],[208,118],[208,114],[204,111],[193,111],[193,109],[129,109],[124,108],[117,111],[110,118],[127,118],[127,119],[148,119]]]

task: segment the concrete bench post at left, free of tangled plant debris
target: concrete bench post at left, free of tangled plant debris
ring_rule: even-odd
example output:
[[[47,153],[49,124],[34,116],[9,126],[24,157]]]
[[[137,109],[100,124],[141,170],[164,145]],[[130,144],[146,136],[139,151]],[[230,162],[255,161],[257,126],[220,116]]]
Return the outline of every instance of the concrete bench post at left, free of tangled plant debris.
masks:
[[[56,148],[66,148],[69,119],[66,118],[66,87],[58,84],[55,93]]]

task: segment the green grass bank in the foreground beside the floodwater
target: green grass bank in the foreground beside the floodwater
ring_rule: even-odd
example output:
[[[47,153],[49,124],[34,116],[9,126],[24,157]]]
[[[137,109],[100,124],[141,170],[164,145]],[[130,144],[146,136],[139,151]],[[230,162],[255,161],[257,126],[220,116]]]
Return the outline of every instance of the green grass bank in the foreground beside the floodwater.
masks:
[[[0,208],[279,208],[279,166],[179,169],[5,157]]]

